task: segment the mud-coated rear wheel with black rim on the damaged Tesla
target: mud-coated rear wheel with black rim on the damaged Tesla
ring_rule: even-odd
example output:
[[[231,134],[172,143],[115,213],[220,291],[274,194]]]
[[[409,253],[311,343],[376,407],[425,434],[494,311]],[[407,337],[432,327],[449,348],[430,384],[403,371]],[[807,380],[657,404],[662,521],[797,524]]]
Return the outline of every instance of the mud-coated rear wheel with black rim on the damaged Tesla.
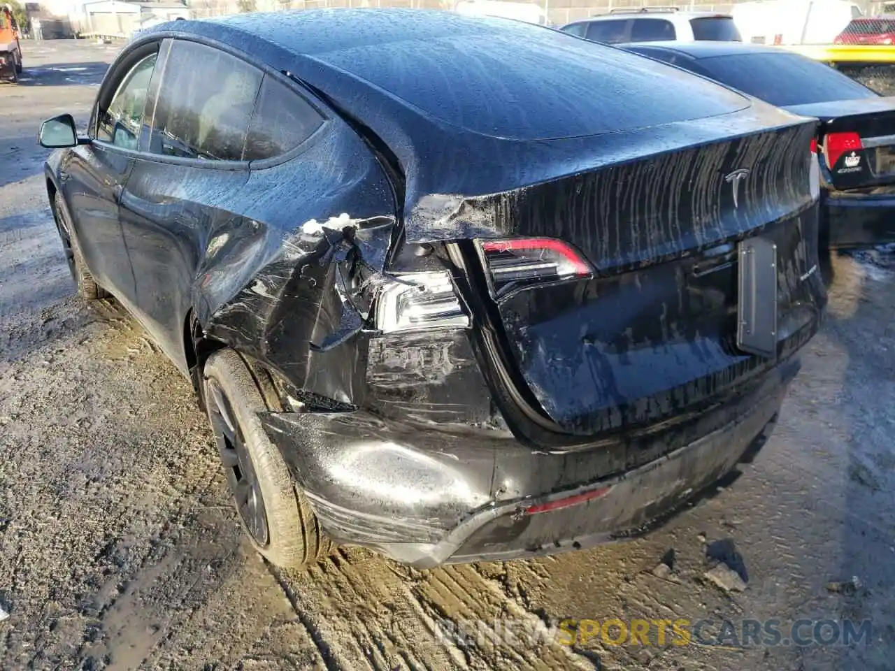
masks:
[[[233,350],[214,352],[202,377],[217,449],[237,516],[252,547],[283,568],[310,565],[327,556],[332,543],[295,488],[283,455],[261,426],[259,412],[267,412],[268,407],[245,362]],[[227,420],[234,426],[229,427]],[[232,437],[226,436],[228,429],[233,429]],[[246,484],[250,479],[254,482]],[[254,493],[241,496],[239,492],[246,487]],[[263,522],[257,519],[259,511]]]

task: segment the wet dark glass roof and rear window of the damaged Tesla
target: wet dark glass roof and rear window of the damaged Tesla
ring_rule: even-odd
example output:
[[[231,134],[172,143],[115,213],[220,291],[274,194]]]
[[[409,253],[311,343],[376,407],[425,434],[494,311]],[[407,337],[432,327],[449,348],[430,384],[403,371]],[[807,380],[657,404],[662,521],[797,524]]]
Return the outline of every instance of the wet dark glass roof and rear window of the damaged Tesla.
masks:
[[[368,125],[388,105],[465,132],[555,140],[749,105],[635,54],[507,19],[408,9],[303,10],[176,21],[159,32],[192,33],[251,54]],[[629,105],[631,95],[671,98],[682,86],[690,95],[674,106]],[[594,90],[617,93],[594,96]]]

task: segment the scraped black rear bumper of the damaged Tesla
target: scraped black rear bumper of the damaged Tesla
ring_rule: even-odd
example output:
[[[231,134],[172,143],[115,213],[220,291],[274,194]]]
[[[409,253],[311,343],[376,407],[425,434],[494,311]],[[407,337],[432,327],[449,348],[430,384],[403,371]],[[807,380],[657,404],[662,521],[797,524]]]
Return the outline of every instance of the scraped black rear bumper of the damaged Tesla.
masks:
[[[493,431],[412,428],[365,412],[262,419],[330,537],[430,568],[644,531],[761,446],[797,369],[795,359],[781,363],[684,426],[563,454]],[[567,497],[580,502],[526,513]]]

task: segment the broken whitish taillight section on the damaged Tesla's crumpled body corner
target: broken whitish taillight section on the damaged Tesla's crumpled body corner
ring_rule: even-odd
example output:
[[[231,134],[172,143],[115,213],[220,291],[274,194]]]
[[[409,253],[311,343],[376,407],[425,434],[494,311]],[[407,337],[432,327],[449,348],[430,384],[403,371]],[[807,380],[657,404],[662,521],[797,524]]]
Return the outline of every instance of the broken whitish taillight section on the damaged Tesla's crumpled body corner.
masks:
[[[447,270],[388,276],[379,292],[376,326],[382,333],[468,327],[469,316]]]

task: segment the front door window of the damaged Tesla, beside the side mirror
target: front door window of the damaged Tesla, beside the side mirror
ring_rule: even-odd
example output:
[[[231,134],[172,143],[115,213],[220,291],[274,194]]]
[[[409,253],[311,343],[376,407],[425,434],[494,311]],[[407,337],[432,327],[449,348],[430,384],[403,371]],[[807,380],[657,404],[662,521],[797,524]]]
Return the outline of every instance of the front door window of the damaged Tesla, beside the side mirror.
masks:
[[[107,109],[99,115],[98,140],[123,149],[137,149],[156,57],[155,54],[147,56],[124,77]]]

